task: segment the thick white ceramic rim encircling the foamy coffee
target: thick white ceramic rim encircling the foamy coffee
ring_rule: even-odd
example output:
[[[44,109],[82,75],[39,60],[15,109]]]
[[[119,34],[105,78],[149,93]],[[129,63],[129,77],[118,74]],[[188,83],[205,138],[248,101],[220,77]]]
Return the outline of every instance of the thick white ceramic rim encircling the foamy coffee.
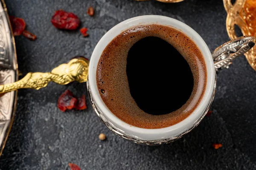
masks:
[[[182,31],[198,46],[204,57],[207,67],[206,90],[198,107],[186,119],[182,120],[181,122],[169,127],[159,129],[145,129],[135,127],[127,124],[126,122],[123,122],[121,119],[116,117],[113,113],[111,113],[111,111],[103,102],[97,89],[96,83],[96,69],[99,62],[99,58],[105,47],[108,45],[108,43],[111,42],[111,40],[113,40],[114,37],[116,37],[122,31],[125,31],[128,28],[148,24],[171,26],[172,28]],[[215,82],[216,74],[212,54],[209,51],[207,44],[195,30],[187,26],[185,23],[182,23],[170,17],[164,17],[159,15],[144,15],[139,17],[133,17],[117,24],[116,26],[111,28],[101,38],[101,40],[99,40],[91,55],[87,85],[88,88],[90,88],[90,96],[91,98],[93,98],[92,104],[95,104],[95,106],[97,107],[97,111],[99,111],[102,114],[104,119],[106,119],[105,121],[108,121],[108,124],[118,129],[123,134],[133,137],[134,139],[148,141],[171,139],[190,131],[193,127],[195,127],[195,125],[198,125],[198,123],[201,121],[201,119],[203,119],[204,115],[208,111],[209,105],[212,103],[212,99],[215,92]]]

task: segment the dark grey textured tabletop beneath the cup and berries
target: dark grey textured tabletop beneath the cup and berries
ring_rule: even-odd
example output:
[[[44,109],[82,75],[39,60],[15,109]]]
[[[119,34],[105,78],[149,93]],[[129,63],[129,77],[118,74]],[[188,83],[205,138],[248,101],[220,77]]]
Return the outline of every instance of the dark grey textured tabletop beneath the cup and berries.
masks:
[[[50,71],[73,56],[90,58],[99,39],[117,23],[157,14],[180,20],[197,31],[210,50],[229,40],[222,0],[185,0],[177,4],[134,0],[6,0],[9,14],[22,17],[36,41],[16,37],[19,70]],[[96,9],[94,17],[87,7]],[[90,37],[60,31],[50,18],[55,10],[72,11]],[[183,138],[156,147],[137,145],[111,133],[90,105],[85,111],[57,108],[58,96],[70,89],[87,94],[85,83],[50,83],[39,91],[18,92],[15,121],[0,158],[0,170],[253,170],[256,169],[256,72],[245,57],[218,74],[213,113]],[[107,140],[100,141],[99,133]],[[212,143],[223,144],[218,150]]]

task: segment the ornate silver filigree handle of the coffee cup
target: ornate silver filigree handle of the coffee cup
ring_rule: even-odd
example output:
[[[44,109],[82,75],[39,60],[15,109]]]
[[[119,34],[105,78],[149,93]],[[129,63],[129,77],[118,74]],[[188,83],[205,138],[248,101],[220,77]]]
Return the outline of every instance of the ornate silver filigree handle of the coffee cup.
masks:
[[[215,70],[219,68],[228,68],[232,60],[246,53],[256,43],[256,37],[239,37],[219,46],[212,52]]]

